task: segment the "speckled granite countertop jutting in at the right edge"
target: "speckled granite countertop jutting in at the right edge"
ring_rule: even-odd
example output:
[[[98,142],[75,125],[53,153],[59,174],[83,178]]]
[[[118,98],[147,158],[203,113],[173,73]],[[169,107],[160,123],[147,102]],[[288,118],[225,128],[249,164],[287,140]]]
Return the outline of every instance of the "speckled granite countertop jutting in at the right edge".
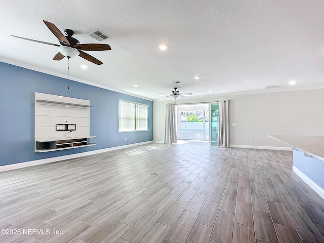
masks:
[[[324,136],[269,135],[269,137],[324,161]]]

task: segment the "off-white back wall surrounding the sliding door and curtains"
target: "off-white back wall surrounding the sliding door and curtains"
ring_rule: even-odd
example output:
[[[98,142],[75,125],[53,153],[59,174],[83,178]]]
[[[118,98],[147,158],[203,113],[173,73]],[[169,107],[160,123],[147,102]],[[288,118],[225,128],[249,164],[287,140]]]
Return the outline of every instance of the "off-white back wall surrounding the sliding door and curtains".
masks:
[[[230,101],[230,144],[242,147],[286,147],[268,135],[324,136],[324,90],[177,99],[177,104]],[[153,102],[153,140],[163,141],[165,104]],[[250,138],[253,141],[250,141]]]

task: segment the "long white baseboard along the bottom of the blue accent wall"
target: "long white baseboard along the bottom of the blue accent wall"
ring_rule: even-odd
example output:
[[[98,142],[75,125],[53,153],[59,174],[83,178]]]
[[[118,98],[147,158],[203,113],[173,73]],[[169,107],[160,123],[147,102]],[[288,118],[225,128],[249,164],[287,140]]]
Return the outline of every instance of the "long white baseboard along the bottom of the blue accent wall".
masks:
[[[109,152],[109,151],[113,151],[113,150],[117,150],[117,149],[124,149],[124,148],[139,146],[139,145],[143,145],[143,144],[148,144],[148,143],[154,143],[154,142],[147,141],[147,142],[141,142],[141,143],[133,143],[133,144],[128,144],[128,145],[98,149],[98,150],[93,150],[93,151],[88,151],[88,152],[83,152],[83,153],[74,153],[74,154],[68,154],[68,155],[63,155],[63,156],[26,161],[26,162],[12,164],[12,165],[0,166],[0,172],[26,168],[26,167],[30,167],[30,166],[38,166],[38,165],[53,163],[53,162],[57,162],[57,161],[62,161],[65,159],[72,159],[72,158],[78,158],[78,157],[83,157],[83,156],[97,154],[97,153],[104,153],[104,152]]]

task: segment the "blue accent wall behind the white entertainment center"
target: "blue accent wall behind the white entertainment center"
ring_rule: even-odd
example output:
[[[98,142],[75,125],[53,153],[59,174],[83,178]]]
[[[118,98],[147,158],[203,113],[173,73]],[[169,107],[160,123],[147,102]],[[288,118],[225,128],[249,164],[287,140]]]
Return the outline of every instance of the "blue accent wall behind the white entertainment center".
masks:
[[[0,166],[152,141],[153,102],[0,62]],[[34,92],[90,100],[95,146],[34,152]],[[149,105],[149,131],[118,133],[118,99]],[[127,141],[125,141],[127,137]]]

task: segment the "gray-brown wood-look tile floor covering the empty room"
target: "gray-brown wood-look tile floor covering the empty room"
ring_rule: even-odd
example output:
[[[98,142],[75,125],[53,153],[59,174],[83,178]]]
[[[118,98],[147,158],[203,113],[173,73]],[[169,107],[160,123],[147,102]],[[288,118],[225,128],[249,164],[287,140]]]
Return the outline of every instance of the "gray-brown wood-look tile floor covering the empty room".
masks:
[[[6,243],[324,242],[324,200],[290,151],[148,144],[3,172],[0,185]]]

